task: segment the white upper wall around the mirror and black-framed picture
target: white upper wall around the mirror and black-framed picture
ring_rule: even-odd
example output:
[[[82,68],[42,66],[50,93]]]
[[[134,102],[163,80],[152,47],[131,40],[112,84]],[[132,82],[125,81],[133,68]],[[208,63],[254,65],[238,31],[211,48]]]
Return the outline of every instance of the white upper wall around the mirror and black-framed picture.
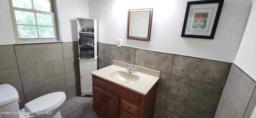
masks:
[[[188,1],[89,0],[90,18],[98,19],[98,41],[233,62],[248,20],[252,0],[224,0],[213,40],[181,37]],[[150,41],[126,39],[128,9],[153,8]]]

